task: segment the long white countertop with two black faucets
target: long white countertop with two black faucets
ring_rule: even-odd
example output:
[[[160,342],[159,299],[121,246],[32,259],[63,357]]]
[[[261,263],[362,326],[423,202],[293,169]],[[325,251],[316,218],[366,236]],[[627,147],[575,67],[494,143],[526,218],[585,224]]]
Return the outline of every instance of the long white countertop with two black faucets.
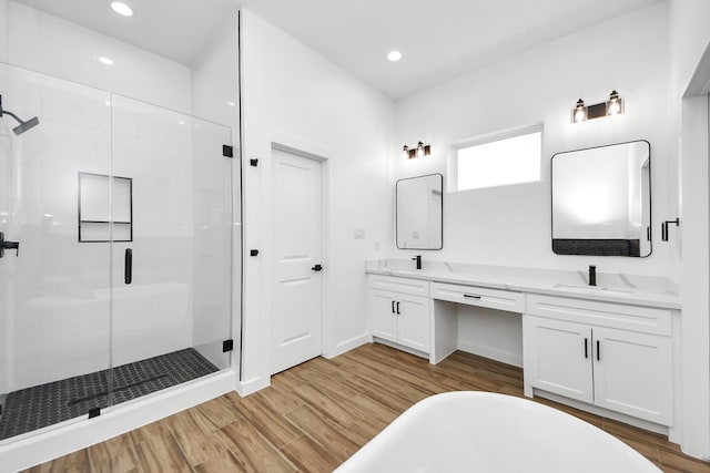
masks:
[[[365,271],[435,282],[459,284],[519,292],[564,296],[635,306],[680,309],[678,285],[663,277],[597,273],[597,286],[588,285],[586,271],[516,268],[424,261],[414,269],[408,259],[366,261]]]

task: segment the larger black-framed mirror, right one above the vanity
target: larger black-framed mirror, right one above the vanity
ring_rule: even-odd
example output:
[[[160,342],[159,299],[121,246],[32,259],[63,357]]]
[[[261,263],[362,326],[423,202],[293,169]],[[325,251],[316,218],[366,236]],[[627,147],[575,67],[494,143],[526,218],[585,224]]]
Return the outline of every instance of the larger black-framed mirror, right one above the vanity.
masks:
[[[651,254],[651,145],[619,143],[551,160],[552,251]]]

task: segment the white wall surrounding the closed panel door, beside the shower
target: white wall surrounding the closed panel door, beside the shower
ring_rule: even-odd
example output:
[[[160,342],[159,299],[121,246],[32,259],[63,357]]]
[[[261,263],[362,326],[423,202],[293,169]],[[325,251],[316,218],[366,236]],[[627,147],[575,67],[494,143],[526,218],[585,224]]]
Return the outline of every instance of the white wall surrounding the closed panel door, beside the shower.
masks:
[[[248,10],[242,11],[244,96],[244,346],[242,391],[268,383],[272,289],[271,147],[326,158],[324,343],[333,356],[366,339],[364,260],[393,241],[388,175],[393,104]],[[258,158],[258,167],[248,165]],[[355,239],[354,230],[365,230]],[[250,257],[248,249],[261,249]]]

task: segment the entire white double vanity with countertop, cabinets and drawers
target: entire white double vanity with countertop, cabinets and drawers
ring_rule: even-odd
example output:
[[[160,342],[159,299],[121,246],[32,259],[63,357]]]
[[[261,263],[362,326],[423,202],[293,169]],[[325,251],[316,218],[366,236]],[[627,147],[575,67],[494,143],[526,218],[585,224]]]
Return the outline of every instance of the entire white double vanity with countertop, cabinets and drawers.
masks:
[[[589,286],[587,271],[429,261],[417,270],[395,259],[368,261],[366,273],[375,341],[438,363],[462,348],[459,318],[477,308],[521,315],[526,395],[673,440],[680,302],[671,280],[599,274]]]

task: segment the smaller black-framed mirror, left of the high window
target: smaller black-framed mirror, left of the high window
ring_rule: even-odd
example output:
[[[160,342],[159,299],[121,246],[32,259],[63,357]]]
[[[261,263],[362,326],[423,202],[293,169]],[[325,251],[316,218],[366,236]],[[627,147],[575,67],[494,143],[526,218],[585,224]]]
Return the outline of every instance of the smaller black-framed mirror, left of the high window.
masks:
[[[396,239],[399,249],[442,249],[444,176],[399,179],[396,184]]]

